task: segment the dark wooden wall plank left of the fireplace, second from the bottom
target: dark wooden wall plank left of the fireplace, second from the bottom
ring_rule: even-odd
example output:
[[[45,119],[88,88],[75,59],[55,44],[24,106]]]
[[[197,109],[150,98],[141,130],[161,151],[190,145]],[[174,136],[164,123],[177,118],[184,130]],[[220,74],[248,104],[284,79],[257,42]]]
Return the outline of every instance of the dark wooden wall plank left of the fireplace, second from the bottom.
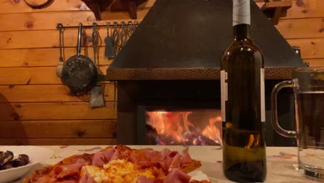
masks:
[[[0,139],[116,138],[116,120],[0,121],[0,125]]]

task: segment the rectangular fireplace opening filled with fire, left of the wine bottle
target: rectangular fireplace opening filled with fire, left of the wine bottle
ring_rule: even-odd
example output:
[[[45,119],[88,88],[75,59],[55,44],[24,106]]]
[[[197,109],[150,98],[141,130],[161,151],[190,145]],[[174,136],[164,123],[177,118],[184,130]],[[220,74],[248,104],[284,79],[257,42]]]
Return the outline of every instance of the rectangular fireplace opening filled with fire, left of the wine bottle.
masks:
[[[145,121],[150,145],[222,145],[220,110],[151,110]]]

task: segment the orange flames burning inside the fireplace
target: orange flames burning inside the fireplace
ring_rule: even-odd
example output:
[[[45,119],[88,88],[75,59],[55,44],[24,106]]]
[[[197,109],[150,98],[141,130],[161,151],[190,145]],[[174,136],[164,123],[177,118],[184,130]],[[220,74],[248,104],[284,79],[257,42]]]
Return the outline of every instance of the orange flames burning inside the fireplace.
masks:
[[[158,134],[156,144],[183,144],[183,145],[208,145],[206,141],[215,141],[222,145],[221,132],[216,127],[216,123],[222,126],[222,118],[215,115],[209,119],[206,127],[200,128],[199,121],[191,121],[188,115],[192,112],[166,112],[153,111],[147,112],[147,125],[151,125]],[[204,116],[204,112],[199,113]],[[207,121],[206,121],[207,122]],[[208,140],[209,139],[209,140]],[[169,144],[165,143],[169,141]],[[209,142],[210,143],[210,142]]]

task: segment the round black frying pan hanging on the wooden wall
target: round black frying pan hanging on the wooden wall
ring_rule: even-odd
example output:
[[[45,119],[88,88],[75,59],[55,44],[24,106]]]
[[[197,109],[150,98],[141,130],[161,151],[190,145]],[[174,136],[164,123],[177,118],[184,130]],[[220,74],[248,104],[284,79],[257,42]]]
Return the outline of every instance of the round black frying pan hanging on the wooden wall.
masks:
[[[66,60],[62,69],[62,82],[73,94],[88,93],[96,85],[98,71],[96,64],[81,55],[82,24],[79,24],[77,54]]]

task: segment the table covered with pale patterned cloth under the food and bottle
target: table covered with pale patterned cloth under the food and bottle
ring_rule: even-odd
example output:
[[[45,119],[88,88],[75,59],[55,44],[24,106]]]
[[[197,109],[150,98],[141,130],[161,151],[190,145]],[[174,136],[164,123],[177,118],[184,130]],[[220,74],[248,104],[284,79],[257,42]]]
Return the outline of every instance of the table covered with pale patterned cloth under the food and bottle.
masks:
[[[75,154],[95,153],[105,146],[43,146],[53,150],[54,155],[51,159],[42,162],[33,170],[29,171],[26,176],[35,171],[36,168],[51,165],[59,162],[64,157],[69,157]],[[171,150],[182,151],[185,146],[130,146],[132,148],[154,148],[162,150],[170,148]],[[193,159],[201,161],[202,166],[200,171],[206,173],[211,182],[231,182],[224,177],[222,172],[222,149],[219,146],[188,146],[190,156]],[[314,181],[301,175],[296,170],[297,164],[297,148],[294,147],[267,147],[267,180],[265,182],[285,182],[285,183],[305,183],[305,182],[320,182]],[[25,177],[26,177],[25,176]],[[21,182],[21,180],[15,183]]]

